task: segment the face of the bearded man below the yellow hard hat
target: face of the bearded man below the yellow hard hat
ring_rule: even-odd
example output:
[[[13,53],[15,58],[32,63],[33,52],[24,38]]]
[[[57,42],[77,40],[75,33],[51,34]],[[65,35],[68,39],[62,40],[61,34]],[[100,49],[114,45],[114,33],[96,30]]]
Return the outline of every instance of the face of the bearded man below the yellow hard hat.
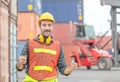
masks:
[[[53,22],[48,20],[41,21],[40,29],[45,37],[51,36],[51,32],[53,30]]]

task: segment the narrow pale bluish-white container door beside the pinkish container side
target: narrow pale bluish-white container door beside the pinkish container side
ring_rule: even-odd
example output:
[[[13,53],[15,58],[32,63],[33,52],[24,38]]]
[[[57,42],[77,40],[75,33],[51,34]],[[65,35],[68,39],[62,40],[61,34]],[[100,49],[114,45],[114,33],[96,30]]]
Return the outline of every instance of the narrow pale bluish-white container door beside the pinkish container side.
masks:
[[[11,82],[17,82],[17,70],[16,70],[16,61],[17,61],[17,42],[16,42],[16,24],[11,23],[10,29],[10,61],[11,61]]]

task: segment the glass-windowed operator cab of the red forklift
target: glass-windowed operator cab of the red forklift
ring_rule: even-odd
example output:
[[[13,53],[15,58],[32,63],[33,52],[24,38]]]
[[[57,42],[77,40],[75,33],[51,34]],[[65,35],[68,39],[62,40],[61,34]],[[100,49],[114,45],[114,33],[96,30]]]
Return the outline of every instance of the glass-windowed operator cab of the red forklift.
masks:
[[[76,25],[76,40],[89,44],[91,47],[95,43],[95,31],[92,25]]]

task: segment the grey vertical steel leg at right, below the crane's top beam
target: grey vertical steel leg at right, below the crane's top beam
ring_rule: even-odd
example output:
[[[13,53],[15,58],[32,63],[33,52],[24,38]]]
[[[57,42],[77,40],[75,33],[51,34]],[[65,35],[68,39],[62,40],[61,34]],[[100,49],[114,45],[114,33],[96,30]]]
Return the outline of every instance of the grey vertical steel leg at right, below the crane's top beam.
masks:
[[[117,66],[117,24],[116,24],[116,7],[111,7],[111,17],[112,17],[112,22],[111,22],[111,28],[112,28],[112,47],[113,47],[113,57],[114,57],[114,62],[115,66]]]

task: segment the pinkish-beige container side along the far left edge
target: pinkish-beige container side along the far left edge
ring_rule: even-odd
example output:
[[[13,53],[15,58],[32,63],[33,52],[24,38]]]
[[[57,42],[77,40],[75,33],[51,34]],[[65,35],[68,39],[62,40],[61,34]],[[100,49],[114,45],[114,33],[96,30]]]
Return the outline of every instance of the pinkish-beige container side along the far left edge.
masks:
[[[0,82],[9,82],[9,12],[8,0],[0,0]]]

